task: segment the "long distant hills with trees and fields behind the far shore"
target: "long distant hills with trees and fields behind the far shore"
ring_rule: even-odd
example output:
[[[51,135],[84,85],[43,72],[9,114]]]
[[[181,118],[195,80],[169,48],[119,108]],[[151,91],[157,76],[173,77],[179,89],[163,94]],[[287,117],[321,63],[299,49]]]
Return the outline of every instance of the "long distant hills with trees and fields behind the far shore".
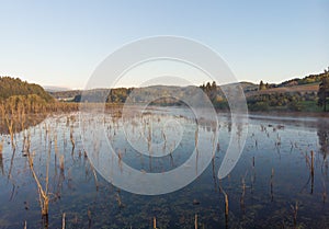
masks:
[[[238,82],[217,85],[216,82],[196,87],[174,85],[151,85],[145,88],[120,88],[120,89],[93,89],[89,91],[69,90],[49,92],[54,98],[61,101],[72,102],[110,102],[125,103],[129,93],[134,91],[134,102],[143,103],[157,99],[152,104],[180,105],[178,101],[171,100],[170,92],[175,91],[180,98],[192,98],[194,89],[201,88],[211,99],[216,108],[228,108],[226,96],[223,90],[226,87],[241,87],[245,91],[248,106],[251,111],[291,110],[291,111],[316,111],[319,83],[322,78],[329,78],[329,69],[317,75],[309,75],[304,78],[294,78],[281,83],[261,82]],[[81,96],[84,94],[84,96]],[[162,99],[161,99],[162,98]]]

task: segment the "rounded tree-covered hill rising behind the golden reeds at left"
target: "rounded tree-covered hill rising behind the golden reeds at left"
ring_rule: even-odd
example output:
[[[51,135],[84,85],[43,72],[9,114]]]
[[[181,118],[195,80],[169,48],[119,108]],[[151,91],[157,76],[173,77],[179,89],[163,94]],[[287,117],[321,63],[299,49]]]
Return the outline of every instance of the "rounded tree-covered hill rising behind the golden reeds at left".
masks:
[[[54,101],[41,85],[27,83],[19,78],[0,77],[0,100],[5,100],[13,95],[36,94],[46,102]]]

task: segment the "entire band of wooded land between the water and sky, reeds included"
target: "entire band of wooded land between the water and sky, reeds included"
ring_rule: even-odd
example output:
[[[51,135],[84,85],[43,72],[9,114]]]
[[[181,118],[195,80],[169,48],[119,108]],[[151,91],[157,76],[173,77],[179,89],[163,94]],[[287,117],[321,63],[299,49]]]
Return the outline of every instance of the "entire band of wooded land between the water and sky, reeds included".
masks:
[[[229,111],[223,89],[229,85],[217,85],[215,81],[200,85],[218,111]],[[248,108],[251,112],[292,111],[292,112],[326,112],[329,101],[329,71],[326,69],[318,75],[294,78],[282,83],[259,84],[239,83],[246,94]],[[47,111],[75,111],[80,102],[106,104],[123,104],[134,91],[134,103],[143,103],[157,95],[151,105],[182,105],[182,101],[168,95],[175,91],[179,98],[193,94],[195,87],[152,85],[146,88],[115,88],[46,92],[41,85],[27,83],[19,78],[0,78],[1,111],[39,113]]]

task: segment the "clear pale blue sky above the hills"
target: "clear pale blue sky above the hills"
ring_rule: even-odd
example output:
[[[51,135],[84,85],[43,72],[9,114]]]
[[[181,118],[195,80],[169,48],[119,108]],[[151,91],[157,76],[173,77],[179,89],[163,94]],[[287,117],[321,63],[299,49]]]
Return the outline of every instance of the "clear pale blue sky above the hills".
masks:
[[[329,67],[328,12],[328,0],[0,0],[0,76],[81,89],[125,44],[172,35],[212,48],[238,81],[281,82]],[[121,84],[144,83],[136,72]]]

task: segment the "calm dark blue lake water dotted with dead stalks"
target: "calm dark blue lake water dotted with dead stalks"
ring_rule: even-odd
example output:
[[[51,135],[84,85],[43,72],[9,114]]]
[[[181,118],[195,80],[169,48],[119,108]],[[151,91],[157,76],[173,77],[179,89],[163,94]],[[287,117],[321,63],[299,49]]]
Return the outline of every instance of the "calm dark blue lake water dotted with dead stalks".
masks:
[[[170,171],[183,165],[196,145],[193,115],[177,107],[150,110],[140,121],[124,122],[110,114],[90,116],[84,129],[77,113],[48,116],[16,133],[15,149],[10,136],[3,134],[0,228],[23,228],[24,221],[27,228],[61,228],[64,213],[66,228],[154,228],[155,218],[157,228],[194,228],[195,216],[197,228],[329,228],[329,118],[250,115],[248,123],[240,124],[241,131],[248,126],[242,154],[229,175],[219,181],[218,169],[234,128],[229,115],[218,114],[218,145],[212,146],[215,156],[205,171],[179,191],[154,196],[120,190],[95,172],[84,148],[93,142],[92,121],[97,118],[120,153],[121,159],[114,160],[118,170],[125,162],[143,173]],[[134,135],[134,126],[139,124],[141,137],[150,144],[166,138],[166,147],[152,147],[154,152],[162,150],[163,157],[140,154],[127,141],[126,136]],[[197,131],[211,145],[215,129],[200,124]],[[87,133],[86,139],[81,131]],[[37,186],[24,156],[24,136],[31,140],[34,170],[43,185],[49,156],[47,225],[43,225]],[[134,144],[138,145],[138,139],[137,135]],[[223,191],[228,196],[227,216]]]

